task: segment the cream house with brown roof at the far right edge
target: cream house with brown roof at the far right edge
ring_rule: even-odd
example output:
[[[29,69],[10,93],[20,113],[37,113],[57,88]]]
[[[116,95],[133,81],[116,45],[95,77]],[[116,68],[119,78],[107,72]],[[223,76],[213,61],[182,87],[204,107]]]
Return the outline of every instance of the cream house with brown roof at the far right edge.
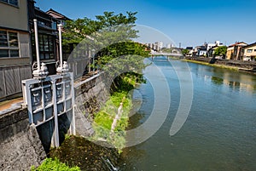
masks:
[[[242,60],[256,60],[256,43],[248,44],[241,48]]]

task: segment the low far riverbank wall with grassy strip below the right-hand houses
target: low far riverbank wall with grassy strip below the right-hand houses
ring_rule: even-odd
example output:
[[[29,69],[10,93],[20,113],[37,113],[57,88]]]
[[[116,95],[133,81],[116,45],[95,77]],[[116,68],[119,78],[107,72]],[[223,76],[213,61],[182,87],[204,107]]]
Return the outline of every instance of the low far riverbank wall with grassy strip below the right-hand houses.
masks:
[[[241,60],[219,60],[212,58],[198,58],[198,57],[186,57],[183,61],[193,62],[205,66],[214,66],[220,68],[226,68],[234,71],[245,71],[247,73],[256,74],[256,62],[255,61],[241,61]]]

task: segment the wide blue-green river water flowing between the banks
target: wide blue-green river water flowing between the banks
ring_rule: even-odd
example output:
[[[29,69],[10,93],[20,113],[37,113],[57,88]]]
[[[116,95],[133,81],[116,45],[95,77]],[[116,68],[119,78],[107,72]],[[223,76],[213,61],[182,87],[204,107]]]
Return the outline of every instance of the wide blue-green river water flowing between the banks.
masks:
[[[157,86],[163,85],[160,90],[166,94],[156,102],[170,107],[167,111],[158,111],[160,116],[167,116],[155,134],[124,149],[119,169],[256,170],[256,76],[180,60],[168,62],[165,57],[157,57],[153,62],[154,65],[144,71],[148,82],[134,91],[137,112],[131,117],[130,129],[147,122],[154,110],[152,77]],[[171,136],[178,105],[183,103],[180,102],[181,77],[177,77],[177,72],[186,70],[184,66],[189,66],[188,74],[192,77],[193,85],[189,88],[193,90],[193,100],[183,127]],[[162,75],[156,76],[154,70]],[[164,86],[166,82],[169,90]],[[172,97],[171,104],[165,104],[170,103],[165,100],[168,93]],[[152,130],[148,128],[148,131]],[[134,134],[130,139],[137,140],[141,136]]]

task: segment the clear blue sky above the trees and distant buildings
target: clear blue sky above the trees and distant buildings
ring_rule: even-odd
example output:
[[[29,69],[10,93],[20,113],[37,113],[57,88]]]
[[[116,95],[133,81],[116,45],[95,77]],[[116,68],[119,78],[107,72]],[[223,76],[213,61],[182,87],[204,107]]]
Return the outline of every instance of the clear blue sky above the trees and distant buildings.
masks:
[[[256,42],[256,0],[37,0],[36,6],[71,19],[95,19],[104,11],[138,12],[138,25],[153,27],[182,47],[216,40]]]

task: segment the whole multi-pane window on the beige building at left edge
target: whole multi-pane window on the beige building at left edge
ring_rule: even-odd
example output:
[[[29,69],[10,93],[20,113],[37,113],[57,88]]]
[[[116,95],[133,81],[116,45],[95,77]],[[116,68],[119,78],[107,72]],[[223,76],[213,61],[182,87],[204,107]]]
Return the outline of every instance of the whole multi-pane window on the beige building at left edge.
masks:
[[[18,33],[0,30],[0,58],[19,56]]]

